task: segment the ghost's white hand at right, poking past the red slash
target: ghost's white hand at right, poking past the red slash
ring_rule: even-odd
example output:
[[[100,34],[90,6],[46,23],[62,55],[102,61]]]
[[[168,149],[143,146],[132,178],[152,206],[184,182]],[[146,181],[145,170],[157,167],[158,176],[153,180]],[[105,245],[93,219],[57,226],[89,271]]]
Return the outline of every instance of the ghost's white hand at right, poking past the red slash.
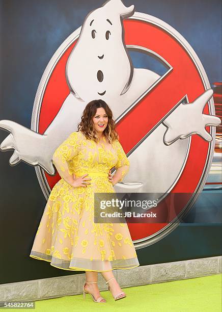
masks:
[[[165,145],[171,145],[178,139],[186,139],[192,134],[198,134],[206,141],[212,140],[205,126],[217,126],[221,122],[216,116],[203,114],[203,109],[212,95],[213,90],[209,89],[192,103],[180,104],[163,121],[163,124],[168,127],[163,136]]]

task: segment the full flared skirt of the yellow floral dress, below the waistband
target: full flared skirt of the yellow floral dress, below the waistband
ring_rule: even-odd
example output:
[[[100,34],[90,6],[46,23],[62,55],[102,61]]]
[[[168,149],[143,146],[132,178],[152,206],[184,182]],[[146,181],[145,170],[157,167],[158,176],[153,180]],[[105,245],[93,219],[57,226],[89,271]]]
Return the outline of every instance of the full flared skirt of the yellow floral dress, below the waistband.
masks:
[[[71,187],[62,178],[46,203],[30,257],[71,271],[110,271],[139,266],[127,223],[94,223],[94,193],[114,193],[110,181]]]

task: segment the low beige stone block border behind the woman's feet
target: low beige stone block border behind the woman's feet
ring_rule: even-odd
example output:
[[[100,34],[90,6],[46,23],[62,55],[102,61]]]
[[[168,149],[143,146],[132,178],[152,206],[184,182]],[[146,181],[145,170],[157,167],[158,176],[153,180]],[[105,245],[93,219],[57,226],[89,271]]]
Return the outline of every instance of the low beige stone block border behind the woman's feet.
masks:
[[[219,273],[222,273],[222,256],[140,266],[129,270],[114,270],[114,275],[122,288]],[[83,273],[0,284],[0,301],[37,301],[82,294],[85,276]],[[101,274],[98,275],[98,287],[100,291],[107,290]],[[3,303],[0,303],[0,306],[2,305]]]

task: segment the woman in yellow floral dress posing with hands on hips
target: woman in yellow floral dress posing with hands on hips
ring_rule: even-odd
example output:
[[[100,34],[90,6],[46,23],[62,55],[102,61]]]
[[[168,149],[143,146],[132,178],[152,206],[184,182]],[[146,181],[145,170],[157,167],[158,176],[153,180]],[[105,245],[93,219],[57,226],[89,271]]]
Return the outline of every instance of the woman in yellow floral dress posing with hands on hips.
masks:
[[[84,298],[89,293],[95,302],[106,302],[98,272],[115,300],[126,297],[112,270],[140,265],[128,226],[94,223],[94,193],[115,193],[113,186],[129,170],[113,113],[103,100],[88,103],[78,131],[56,149],[52,162],[61,179],[50,193],[30,256],[60,269],[86,271]]]

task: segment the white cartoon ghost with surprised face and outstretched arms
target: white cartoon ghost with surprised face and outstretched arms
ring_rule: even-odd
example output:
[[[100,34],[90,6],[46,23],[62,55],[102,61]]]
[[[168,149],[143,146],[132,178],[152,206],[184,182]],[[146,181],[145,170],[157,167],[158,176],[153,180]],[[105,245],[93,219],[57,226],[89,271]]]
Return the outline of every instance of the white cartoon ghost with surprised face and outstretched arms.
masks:
[[[10,165],[22,160],[54,174],[52,154],[77,130],[89,101],[103,99],[118,119],[160,78],[150,70],[133,68],[122,25],[122,20],[133,13],[134,6],[110,0],[87,15],[66,64],[70,94],[43,135],[10,120],[0,121],[0,127],[11,132],[1,150],[15,149]],[[198,134],[211,141],[205,126],[220,123],[219,118],[202,114],[212,94],[210,89],[193,103],[180,104],[154,129],[129,155],[130,170],[123,183],[115,185],[116,191],[166,193],[172,188],[183,171],[189,137]]]

